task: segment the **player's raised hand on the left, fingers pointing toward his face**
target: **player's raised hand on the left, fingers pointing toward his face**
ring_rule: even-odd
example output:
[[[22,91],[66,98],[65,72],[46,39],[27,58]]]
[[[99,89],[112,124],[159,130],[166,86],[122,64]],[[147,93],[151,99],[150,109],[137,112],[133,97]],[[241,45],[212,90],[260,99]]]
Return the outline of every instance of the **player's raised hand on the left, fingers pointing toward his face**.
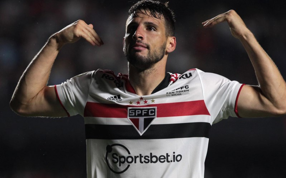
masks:
[[[97,35],[97,33],[93,29],[92,24],[86,24],[83,20],[77,20],[76,22],[66,26],[59,32],[52,35],[57,39],[60,47],[65,45],[66,43],[75,43],[81,37],[86,39],[91,45],[101,46],[103,45],[103,41]]]

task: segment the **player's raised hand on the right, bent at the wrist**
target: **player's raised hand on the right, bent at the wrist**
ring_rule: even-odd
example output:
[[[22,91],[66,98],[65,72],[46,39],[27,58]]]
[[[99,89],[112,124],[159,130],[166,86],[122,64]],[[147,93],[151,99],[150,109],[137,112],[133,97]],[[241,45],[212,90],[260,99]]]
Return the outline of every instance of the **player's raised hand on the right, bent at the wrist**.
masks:
[[[202,24],[205,28],[208,28],[213,27],[221,22],[227,22],[229,24],[232,36],[237,39],[240,39],[250,32],[250,30],[244,24],[243,20],[234,10],[229,10],[228,12],[211,18]]]

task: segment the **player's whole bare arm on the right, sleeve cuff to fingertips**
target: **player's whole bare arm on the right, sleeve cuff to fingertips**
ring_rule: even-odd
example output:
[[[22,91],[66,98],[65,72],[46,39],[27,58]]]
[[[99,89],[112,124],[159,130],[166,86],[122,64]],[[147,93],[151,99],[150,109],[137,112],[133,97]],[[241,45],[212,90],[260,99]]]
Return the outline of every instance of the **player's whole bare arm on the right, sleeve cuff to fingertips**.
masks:
[[[286,114],[286,83],[274,62],[234,10],[220,14],[202,24],[208,28],[221,22],[227,22],[231,34],[241,41],[259,83],[259,86],[242,87],[237,102],[239,116],[265,117]]]

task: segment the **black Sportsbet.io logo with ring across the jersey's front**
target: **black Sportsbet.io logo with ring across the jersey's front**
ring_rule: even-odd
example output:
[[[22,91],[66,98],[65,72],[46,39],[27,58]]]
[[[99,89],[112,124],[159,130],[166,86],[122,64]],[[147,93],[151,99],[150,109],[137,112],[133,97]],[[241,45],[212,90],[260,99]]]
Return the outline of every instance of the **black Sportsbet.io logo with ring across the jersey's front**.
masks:
[[[132,164],[172,164],[180,162],[182,158],[183,156],[181,154],[176,154],[175,152],[161,155],[156,155],[152,152],[132,155],[126,146],[119,143],[107,145],[105,154],[108,168],[116,174],[124,173]]]

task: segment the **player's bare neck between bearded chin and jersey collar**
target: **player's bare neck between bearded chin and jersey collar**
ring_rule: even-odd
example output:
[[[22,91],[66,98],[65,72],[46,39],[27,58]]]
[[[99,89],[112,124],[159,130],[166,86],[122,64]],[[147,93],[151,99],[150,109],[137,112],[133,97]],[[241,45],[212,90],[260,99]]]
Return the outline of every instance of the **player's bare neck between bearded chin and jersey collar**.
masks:
[[[131,64],[128,65],[129,81],[137,95],[151,95],[153,90],[165,78],[166,61],[162,59],[144,71],[138,70]]]

